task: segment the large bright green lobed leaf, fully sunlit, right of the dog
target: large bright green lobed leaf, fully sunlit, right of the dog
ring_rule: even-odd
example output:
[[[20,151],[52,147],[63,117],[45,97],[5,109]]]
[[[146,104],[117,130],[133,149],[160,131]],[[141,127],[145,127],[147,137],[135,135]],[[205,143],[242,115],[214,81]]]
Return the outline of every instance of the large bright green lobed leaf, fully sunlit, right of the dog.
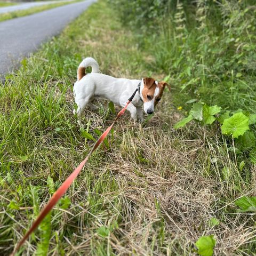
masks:
[[[238,138],[247,130],[249,130],[249,118],[242,112],[225,119],[221,126],[222,133],[232,135],[233,138]]]

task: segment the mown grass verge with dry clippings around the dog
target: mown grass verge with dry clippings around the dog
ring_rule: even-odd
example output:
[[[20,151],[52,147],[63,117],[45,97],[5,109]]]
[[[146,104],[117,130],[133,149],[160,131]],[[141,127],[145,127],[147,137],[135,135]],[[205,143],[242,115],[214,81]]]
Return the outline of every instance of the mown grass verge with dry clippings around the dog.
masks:
[[[72,113],[79,62],[92,56],[102,73],[116,77],[167,75],[155,70],[154,58],[117,17],[103,1],[92,5],[0,87],[3,255],[93,145]],[[255,166],[239,169],[217,127],[174,130],[182,114],[173,100],[166,91],[143,125],[129,114],[118,121],[111,147],[90,158],[21,255],[193,255],[197,239],[210,234],[216,255],[255,255],[255,216],[238,213],[234,204],[255,193]],[[83,117],[94,138],[95,129],[103,132],[115,118],[108,102],[98,105]],[[211,218],[220,224],[213,227]]]

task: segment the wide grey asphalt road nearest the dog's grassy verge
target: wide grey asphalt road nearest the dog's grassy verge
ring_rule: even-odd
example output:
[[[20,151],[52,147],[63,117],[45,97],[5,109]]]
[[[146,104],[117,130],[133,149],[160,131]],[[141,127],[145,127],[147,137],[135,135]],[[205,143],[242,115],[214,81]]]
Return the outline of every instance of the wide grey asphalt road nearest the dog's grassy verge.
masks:
[[[0,75],[13,71],[20,60],[36,51],[47,39],[58,35],[94,2],[96,0],[86,0],[0,22]]]

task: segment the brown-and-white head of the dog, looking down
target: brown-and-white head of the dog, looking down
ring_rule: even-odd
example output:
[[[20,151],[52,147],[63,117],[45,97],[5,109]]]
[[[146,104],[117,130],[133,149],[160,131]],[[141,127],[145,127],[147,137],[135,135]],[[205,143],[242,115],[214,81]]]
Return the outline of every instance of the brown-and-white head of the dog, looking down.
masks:
[[[170,90],[170,85],[163,81],[157,82],[151,77],[143,78],[142,83],[141,97],[143,100],[144,111],[147,114],[152,114],[155,106],[162,98],[165,86]]]

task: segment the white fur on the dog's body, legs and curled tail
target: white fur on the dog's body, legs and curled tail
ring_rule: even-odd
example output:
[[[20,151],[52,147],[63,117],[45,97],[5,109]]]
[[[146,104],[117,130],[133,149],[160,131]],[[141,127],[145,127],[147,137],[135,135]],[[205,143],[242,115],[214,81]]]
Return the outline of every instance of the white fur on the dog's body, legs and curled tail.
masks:
[[[115,78],[112,76],[99,74],[99,65],[97,61],[89,57],[84,59],[79,67],[92,67],[92,73],[86,74],[80,81],[74,85],[75,102],[78,106],[74,113],[78,115],[86,105],[88,105],[95,97],[111,100],[115,104],[124,107],[127,100],[137,88],[140,80]],[[140,93],[143,89],[143,79],[141,81]],[[132,102],[128,105],[127,110],[130,111],[131,117],[140,122],[143,121],[143,102],[138,93],[135,94]],[[151,105],[150,105],[151,106]],[[154,106],[154,103],[153,103]],[[144,107],[147,113],[147,108]]]

